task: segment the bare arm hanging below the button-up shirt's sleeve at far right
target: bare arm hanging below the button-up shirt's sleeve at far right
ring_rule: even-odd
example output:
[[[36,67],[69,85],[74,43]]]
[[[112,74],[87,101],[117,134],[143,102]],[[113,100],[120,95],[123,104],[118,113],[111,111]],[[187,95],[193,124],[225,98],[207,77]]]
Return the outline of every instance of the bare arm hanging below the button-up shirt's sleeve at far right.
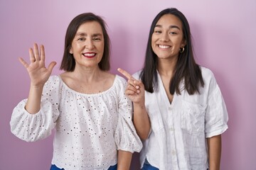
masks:
[[[207,139],[209,170],[220,170],[221,135]]]

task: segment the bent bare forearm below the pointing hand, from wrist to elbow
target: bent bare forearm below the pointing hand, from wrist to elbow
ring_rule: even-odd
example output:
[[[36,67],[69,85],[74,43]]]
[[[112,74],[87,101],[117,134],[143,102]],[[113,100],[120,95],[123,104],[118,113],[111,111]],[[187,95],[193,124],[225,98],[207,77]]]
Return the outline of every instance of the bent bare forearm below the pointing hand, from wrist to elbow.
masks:
[[[149,136],[151,125],[144,104],[139,105],[134,103],[134,127],[136,128],[139,137],[142,140],[146,140]]]

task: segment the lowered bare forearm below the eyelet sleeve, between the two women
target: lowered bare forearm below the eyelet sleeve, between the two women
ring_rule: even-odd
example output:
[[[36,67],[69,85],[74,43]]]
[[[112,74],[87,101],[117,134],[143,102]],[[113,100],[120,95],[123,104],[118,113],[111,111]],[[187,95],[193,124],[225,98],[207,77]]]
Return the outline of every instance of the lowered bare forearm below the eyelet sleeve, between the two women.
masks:
[[[132,162],[132,152],[118,150],[117,170],[129,170]]]

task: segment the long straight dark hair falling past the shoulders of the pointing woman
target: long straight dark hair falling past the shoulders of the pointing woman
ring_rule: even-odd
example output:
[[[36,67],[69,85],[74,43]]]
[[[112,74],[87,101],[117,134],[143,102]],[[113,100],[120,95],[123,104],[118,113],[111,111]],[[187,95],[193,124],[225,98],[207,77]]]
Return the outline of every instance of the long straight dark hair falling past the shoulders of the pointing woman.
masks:
[[[153,93],[154,90],[158,89],[158,78],[157,78],[157,65],[158,65],[158,57],[154,53],[151,47],[151,37],[154,33],[154,28],[156,23],[159,21],[161,16],[166,14],[171,14],[178,17],[182,23],[182,31],[183,31],[183,39],[186,40],[185,50],[180,53],[178,56],[178,61],[176,63],[176,67],[174,68],[174,76],[171,77],[171,83],[169,86],[169,91],[172,95],[176,92],[176,94],[181,94],[181,90],[179,88],[179,84],[182,80],[184,80],[184,89],[188,91],[188,94],[195,94],[195,92],[199,91],[199,85],[204,86],[203,77],[201,73],[201,68],[198,64],[196,64],[193,57],[193,46],[191,42],[191,31],[189,28],[188,21],[186,17],[178,11],[176,8],[166,8],[154,18],[151,23],[151,28],[149,31],[149,40],[147,42],[146,47],[146,57],[144,61],[144,68],[140,74],[140,78],[145,86],[145,90]]]

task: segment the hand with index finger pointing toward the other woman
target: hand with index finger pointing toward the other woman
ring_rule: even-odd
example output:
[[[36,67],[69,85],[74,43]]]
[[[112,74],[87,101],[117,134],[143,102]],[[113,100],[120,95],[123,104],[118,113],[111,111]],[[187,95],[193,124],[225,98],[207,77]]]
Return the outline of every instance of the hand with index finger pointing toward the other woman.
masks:
[[[134,79],[131,74],[129,74],[124,69],[117,69],[124,77],[127,78],[127,89],[125,90],[125,94],[129,97],[129,99],[134,103],[142,103],[144,105],[145,100],[145,89],[142,81]]]

